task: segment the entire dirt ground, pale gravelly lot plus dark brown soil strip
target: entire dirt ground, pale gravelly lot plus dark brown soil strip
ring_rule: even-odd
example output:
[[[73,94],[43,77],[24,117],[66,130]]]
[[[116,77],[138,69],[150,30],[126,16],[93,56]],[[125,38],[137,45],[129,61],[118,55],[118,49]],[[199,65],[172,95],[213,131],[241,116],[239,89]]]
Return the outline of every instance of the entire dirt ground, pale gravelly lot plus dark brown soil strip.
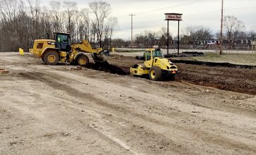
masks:
[[[0,154],[256,154],[254,69],[180,63],[177,80],[153,82],[127,75],[137,62],[0,53]]]

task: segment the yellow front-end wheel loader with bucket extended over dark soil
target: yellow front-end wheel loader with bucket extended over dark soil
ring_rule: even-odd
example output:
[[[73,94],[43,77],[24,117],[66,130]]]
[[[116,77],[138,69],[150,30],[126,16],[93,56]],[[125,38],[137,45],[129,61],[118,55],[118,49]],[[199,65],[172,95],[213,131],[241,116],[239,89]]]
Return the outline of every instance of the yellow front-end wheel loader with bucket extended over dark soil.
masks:
[[[96,63],[107,61],[108,51],[103,51],[101,48],[92,49],[91,44],[86,40],[70,46],[69,40],[69,33],[54,32],[54,39],[36,39],[30,53],[42,58],[47,65],[69,62],[78,66],[86,66],[89,63],[86,53],[91,53]]]

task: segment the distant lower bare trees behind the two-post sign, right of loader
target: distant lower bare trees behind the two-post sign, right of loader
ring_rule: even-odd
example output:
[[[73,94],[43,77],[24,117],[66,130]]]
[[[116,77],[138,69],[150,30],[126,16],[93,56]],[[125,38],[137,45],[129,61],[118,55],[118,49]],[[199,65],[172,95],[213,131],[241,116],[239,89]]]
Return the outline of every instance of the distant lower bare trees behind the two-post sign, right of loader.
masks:
[[[256,28],[256,27],[255,27]],[[235,44],[238,40],[251,40],[256,39],[255,30],[246,31],[245,24],[242,20],[234,16],[224,16],[223,18],[223,39],[228,41],[228,44]],[[150,31],[145,30],[140,34],[134,36],[135,46],[153,46],[158,45],[160,47],[166,47],[167,44],[167,28],[162,27],[161,30]],[[212,32],[208,27],[202,25],[192,25],[187,26],[182,30],[180,35],[180,44],[193,44],[194,46],[198,44],[203,44],[202,41],[216,39],[220,40],[220,32]],[[178,36],[169,36],[169,44],[176,44],[178,42]],[[226,42],[225,42],[226,43]],[[250,42],[248,42],[250,44]],[[129,42],[122,39],[115,39],[114,46],[129,46]]]

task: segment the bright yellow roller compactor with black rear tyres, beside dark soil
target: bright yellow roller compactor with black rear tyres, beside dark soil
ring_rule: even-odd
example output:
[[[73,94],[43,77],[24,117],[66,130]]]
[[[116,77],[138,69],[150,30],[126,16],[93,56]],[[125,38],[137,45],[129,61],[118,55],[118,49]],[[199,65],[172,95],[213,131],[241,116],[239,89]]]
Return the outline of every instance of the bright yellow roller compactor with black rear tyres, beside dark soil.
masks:
[[[134,76],[149,75],[151,80],[175,80],[178,68],[167,58],[163,58],[161,49],[146,49],[144,63],[136,64],[130,68]]]

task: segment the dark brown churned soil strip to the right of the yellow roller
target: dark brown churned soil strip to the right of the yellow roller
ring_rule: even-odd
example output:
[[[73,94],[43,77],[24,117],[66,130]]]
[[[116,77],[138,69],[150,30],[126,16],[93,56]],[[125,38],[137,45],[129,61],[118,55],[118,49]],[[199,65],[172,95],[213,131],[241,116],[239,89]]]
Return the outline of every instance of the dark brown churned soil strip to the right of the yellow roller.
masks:
[[[256,69],[228,68],[176,64],[180,73],[178,78],[196,85],[218,89],[256,94]]]

